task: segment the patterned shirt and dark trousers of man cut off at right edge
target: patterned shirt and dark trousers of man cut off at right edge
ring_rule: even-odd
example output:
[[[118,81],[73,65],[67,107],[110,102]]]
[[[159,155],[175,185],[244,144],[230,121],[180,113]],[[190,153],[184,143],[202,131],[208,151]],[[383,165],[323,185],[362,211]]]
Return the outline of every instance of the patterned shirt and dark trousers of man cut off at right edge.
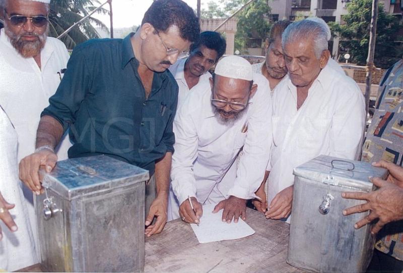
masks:
[[[403,57],[383,75],[375,113],[364,142],[362,161],[381,159],[403,165]],[[396,184],[398,185],[398,184]],[[398,185],[403,188],[403,185]],[[397,208],[392,208],[395,210]],[[403,221],[386,224],[379,232],[368,271],[403,270]]]

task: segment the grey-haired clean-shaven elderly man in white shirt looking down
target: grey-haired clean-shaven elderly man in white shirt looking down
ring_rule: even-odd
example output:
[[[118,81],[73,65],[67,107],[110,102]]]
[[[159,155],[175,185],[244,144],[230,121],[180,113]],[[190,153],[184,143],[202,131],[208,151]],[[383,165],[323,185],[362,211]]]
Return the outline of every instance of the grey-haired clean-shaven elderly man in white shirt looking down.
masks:
[[[366,117],[357,83],[328,65],[323,26],[295,22],[282,43],[288,76],[273,96],[274,145],[267,167],[270,205],[265,215],[272,219],[291,213],[296,166],[320,154],[358,159]],[[258,196],[262,189],[263,184]]]

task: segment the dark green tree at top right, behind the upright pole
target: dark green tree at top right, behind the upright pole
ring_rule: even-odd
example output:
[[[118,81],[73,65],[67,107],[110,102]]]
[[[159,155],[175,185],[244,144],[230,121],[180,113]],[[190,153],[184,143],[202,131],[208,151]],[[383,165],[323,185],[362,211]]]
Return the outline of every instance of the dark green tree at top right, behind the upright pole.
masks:
[[[352,62],[365,65],[368,56],[372,0],[353,0],[347,6],[349,13],[343,17],[345,24],[329,23],[332,33],[341,38],[340,46],[346,49]],[[379,4],[376,27],[375,66],[387,68],[401,57],[403,48],[396,41],[403,26],[396,17],[383,10]],[[401,39],[401,37],[400,37]]]

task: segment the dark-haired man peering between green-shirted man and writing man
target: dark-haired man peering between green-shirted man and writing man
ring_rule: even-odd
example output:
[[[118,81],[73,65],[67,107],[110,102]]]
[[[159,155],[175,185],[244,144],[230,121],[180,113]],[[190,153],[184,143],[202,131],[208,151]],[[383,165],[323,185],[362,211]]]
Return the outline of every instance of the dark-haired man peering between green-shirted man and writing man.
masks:
[[[220,33],[202,32],[199,40],[190,46],[189,57],[180,59],[169,67],[179,87],[178,108],[195,85],[210,86],[209,69],[223,56],[226,46]]]

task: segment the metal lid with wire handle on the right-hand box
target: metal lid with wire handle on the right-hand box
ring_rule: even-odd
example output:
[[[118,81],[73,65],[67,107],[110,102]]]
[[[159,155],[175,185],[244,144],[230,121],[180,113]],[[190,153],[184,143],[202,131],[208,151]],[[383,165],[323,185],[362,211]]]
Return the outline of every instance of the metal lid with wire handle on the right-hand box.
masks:
[[[320,183],[369,192],[373,185],[368,177],[386,179],[388,170],[374,167],[367,162],[319,155],[294,168],[293,173]]]

